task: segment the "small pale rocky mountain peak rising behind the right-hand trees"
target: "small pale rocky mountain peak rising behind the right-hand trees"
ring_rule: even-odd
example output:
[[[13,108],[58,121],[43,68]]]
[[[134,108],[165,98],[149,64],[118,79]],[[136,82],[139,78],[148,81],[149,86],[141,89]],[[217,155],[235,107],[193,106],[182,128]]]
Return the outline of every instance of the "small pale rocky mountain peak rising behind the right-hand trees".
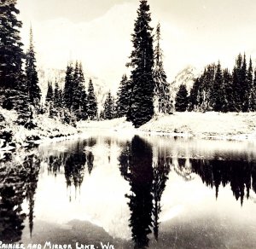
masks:
[[[170,84],[172,96],[176,96],[177,90],[181,84],[184,84],[187,90],[190,92],[195,78],[198,78],[202,73],[202,70],[193,66],[185,67],[181,72],[177,73]]]

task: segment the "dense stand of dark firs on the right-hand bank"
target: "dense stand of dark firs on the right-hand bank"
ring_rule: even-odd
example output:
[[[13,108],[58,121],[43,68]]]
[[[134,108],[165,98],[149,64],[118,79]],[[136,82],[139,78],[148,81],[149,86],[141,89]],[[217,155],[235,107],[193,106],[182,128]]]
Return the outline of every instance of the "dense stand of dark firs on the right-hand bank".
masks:
[[[254,77],[253,77],[254,74]],[[188,91],[181,85],[176,96],[177,111],[249,112],[256,111],[256,71],[246,55],[238,55],[233,72],[218,64],[208,65]]]

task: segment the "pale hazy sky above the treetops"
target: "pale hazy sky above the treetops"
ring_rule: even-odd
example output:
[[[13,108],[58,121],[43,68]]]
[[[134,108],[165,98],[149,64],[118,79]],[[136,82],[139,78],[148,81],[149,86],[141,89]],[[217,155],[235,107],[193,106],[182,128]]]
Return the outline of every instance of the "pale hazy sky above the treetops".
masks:
[[[164,67],[171,82],[184,67],[236,55],[256,58],[255,0],[148,0],[151,26],[161,25]],[[65,69],[82,61],[84,74],[116,84],[129,73],[138,0],[18,0],[24,48],[32,25],[38,67]]]

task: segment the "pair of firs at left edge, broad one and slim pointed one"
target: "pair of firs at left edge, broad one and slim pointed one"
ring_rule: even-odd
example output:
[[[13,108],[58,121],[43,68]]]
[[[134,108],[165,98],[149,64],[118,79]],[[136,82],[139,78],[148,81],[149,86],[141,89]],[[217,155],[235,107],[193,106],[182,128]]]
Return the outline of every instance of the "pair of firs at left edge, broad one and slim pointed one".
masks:
[[[8,110],[19,113],[18,125],[32,128],[33,114],[38,113],[41,90],[38,85],[35,51],[30,32],[30,44],[27,52],[22,50],[20,28],[17,20],[19,10],[16,1],[0,3],[0,104]],[[25,65],[24,65],[25,64]]]

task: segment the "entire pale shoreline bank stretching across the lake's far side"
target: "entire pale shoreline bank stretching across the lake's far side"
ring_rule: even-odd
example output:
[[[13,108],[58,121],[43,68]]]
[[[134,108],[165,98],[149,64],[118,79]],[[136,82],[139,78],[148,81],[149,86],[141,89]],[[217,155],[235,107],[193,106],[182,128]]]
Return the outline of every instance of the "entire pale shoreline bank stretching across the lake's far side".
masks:
[[[256,141],[256,113],[174,113],[154,116],[136,129],[125,118],[103,121],[79,121],[77,127],[61,124],[57,119],[38,115],[36,129],[15,125],[16,113],[2,109],[5,130],[12,132],[12,141],[1,151],[26,148],[49,142],[87,138],[97,134],[120,136],[149,135],[195,137],[214,140]],[[37,139],[33,139],[36,137]],[[0,141],[1,142],[1,141]],[[2,139],[3,142],[3,139]]]

